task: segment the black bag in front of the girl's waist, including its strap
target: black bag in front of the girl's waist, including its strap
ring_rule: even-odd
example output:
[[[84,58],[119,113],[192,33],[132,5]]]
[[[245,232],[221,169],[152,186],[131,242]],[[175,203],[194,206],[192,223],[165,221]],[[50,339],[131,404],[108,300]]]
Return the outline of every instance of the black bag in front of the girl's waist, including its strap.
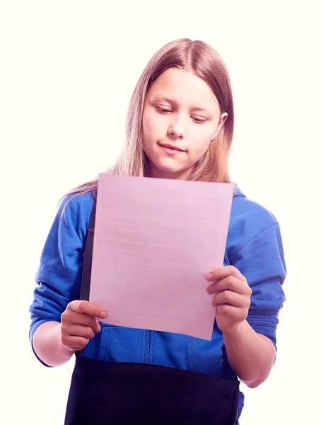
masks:
[[[81,299],[89,299],[95,205],[86,242]],[[238,380],[144,363],[93,361],[76,353],[64,425],[236,425]]]

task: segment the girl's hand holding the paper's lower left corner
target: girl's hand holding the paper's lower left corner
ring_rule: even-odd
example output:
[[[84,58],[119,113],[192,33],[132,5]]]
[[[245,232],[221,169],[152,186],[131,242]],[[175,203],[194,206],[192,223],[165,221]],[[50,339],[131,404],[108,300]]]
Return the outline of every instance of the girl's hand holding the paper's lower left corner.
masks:
[[[62,313],[62,344],[71,351],[79,351],[100,332],[98,319],[105,319],[107,312],[93,302],[76,300],[69,302]]]

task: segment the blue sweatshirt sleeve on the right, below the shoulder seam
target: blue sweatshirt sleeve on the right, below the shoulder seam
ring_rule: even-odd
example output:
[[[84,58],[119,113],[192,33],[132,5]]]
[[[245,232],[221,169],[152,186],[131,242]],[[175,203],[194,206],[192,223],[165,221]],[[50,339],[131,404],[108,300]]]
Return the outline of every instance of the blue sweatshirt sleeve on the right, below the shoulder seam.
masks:
[[[285,295],[286,263],[279,224],[270,225],[252,237],[233,256],[233,266],[245,276],[252,289],[247,322],[267,336],[276,348],[276,327]]]

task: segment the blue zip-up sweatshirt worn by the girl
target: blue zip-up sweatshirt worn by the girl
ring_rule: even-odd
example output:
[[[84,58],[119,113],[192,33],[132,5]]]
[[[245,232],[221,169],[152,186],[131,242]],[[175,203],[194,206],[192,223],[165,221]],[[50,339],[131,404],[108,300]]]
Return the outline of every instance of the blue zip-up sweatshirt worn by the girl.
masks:
[[[49,231],[36,274],[37,288],[30,306],[30,342],[37,327],[60,322],[71,300],[79,298],[83,255],[93,197],[91,193],[68,196],[59,206]],[[66,205],[64,215],[62,209]],[[284,251],[279,223],[261,205],[235,188],[224,266],[238,268],[252,288],[247,322],[276,347],[278,313],[285,297]],[[204,270],[204,273],[207,271]],[[130,329],[101,324],[83,356],[99,361],[151,363],[222,377],[223,335],[214,322],[211,341],[181,334]],[[44,363],[45,364],[45,363]],[[230,368],[229,378],[235,379]],[[244,396],[240,395],[239,416]]]

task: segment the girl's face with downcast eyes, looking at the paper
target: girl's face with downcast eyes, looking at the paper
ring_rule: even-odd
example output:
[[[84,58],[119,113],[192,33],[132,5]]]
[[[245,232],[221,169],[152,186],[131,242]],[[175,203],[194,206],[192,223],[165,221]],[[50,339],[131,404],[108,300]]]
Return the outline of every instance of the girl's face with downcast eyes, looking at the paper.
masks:
[[[182,179],[218,135],[227,113],[206,82],[192,72],[170,68],[147,91],[143,147],[149,176]],[[215,142],[213,142],[215,143]]]

